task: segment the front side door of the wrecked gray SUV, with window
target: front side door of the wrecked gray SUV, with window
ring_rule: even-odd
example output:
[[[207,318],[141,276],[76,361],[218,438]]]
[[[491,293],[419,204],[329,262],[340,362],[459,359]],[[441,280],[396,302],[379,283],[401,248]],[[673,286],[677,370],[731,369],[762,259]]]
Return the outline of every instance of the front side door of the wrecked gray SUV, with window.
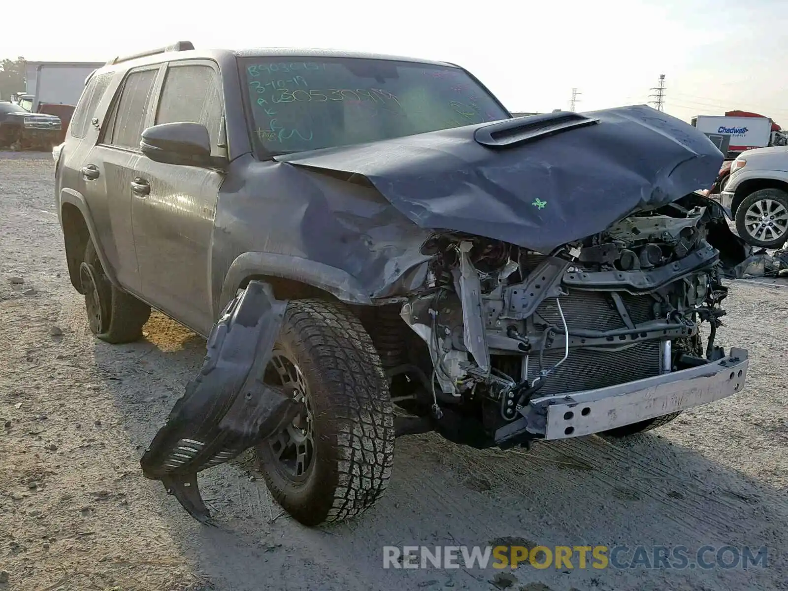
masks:
[[[190,121],[208,128],[214,155],[226,155],[224,101],[213,61],[171,62],[154,124]],[[132,219],[139,273],[151,303],[203,334],[213,325],[210,252],[219,187],[213,169],[136,162]]]

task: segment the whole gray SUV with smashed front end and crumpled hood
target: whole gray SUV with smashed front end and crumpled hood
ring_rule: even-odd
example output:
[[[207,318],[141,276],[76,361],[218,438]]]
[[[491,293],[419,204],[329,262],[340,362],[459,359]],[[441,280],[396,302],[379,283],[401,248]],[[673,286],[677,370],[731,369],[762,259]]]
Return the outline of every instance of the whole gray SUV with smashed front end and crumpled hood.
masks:
[[[745,247],[695,192],[722,160],[646,106],[513,118],[448,63],[180,42],[87,80],[56,199],[93,333],[208,338],[144,473],[209,521],[196,474],[254,448],[316,525],[374,504],[397,436],[619,437],[740,392]]]

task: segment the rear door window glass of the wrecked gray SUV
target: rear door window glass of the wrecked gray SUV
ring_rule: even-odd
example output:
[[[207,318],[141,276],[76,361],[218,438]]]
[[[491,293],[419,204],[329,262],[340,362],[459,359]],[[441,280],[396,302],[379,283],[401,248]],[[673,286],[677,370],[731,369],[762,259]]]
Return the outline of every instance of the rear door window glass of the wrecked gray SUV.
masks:
[[[153,96],[158,68],[129,72],[121,97],[115,102],[114,117],[104,134],[104,142],[139,151],[139,139],[146,124],[147,106]]]

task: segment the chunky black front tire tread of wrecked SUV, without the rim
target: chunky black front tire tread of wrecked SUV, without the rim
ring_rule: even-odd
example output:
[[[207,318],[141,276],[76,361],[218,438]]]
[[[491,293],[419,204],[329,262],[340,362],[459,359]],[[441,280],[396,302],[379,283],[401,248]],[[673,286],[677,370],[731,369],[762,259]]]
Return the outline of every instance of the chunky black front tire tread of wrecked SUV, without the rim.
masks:
[[[394,461],[394,409],[370,335],[342,304],[301,299],[288,304],[274,348],[292,355],[307,383],[314,459],[296,482],[270,444],[258,444],[269,491],[307,526],[359,515],[385,492]]]

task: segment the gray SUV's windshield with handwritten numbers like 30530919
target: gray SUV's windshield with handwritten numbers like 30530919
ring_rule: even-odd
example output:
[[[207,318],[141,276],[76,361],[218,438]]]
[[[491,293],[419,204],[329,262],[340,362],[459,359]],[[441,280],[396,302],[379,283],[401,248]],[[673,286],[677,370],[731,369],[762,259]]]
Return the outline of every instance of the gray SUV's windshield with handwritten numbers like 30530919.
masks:
[[[459,68],[369,58],[299,61],[303,59],[241,59],[252,136],[269,154],[509,117],[489,91]]]

